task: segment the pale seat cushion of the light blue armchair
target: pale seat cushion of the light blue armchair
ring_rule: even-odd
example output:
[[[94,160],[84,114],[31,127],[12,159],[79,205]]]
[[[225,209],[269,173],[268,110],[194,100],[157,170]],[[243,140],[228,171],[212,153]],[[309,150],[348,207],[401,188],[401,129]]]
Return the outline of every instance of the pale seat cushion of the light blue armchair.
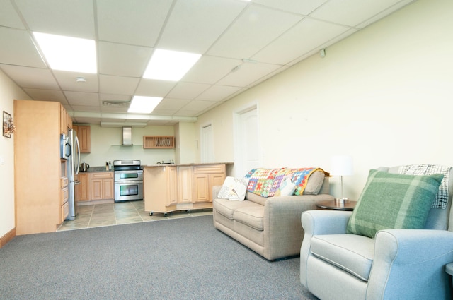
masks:
[[[326,234],[311,238],[311,253],[367,281],[374,257],[374,239],[355,234]]]

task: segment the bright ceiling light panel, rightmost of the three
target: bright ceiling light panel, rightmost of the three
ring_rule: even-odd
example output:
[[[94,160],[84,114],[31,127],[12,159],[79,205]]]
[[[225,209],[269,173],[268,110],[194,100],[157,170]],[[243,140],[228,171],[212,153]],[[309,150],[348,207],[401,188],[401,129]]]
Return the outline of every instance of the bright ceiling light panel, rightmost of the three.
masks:
[[[201,54],[156,49],[143,78],[178,81],[200,57]]]

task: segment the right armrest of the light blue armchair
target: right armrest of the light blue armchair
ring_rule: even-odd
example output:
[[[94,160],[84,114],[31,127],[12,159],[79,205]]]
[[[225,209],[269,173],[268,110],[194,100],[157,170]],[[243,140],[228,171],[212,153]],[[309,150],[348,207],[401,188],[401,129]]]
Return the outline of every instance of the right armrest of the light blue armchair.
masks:
[[[386,229],[375,239],[367,299],[447,299],[453,232]]]

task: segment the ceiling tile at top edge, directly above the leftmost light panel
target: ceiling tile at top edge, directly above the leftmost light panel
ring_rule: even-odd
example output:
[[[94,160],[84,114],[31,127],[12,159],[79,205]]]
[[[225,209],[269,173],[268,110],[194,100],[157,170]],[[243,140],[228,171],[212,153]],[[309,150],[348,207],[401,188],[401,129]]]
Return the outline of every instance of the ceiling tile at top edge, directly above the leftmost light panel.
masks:
[[[16,0],[32,31],[94,39],[92,0]]]

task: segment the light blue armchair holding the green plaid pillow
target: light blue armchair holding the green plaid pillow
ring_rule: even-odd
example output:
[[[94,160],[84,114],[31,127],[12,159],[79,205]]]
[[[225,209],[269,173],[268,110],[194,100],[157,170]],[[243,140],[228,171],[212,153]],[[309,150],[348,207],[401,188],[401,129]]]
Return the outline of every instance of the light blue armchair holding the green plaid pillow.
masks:
[[[398,167],[379,169],[396,173]],[[301,283],[322,300],[449,299],[452,182],[450,172],[447,208],[431,208],[425,229],[385,229],[371,239],[346,234],[352,212],[303,212]]]

